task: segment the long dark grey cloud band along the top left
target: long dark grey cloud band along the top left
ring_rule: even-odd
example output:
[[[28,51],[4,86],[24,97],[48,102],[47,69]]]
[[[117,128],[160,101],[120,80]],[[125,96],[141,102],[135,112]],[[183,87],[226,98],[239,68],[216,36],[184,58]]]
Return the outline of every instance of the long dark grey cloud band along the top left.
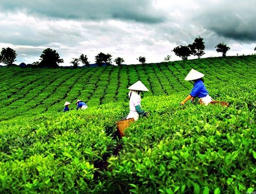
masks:
[[[166,19],[162,11],[154,8],[151,0],[2,0],[0,10],[2,12],[25,10],[31,15],[64,19],[121,19],[142,23],[159,23]]]

